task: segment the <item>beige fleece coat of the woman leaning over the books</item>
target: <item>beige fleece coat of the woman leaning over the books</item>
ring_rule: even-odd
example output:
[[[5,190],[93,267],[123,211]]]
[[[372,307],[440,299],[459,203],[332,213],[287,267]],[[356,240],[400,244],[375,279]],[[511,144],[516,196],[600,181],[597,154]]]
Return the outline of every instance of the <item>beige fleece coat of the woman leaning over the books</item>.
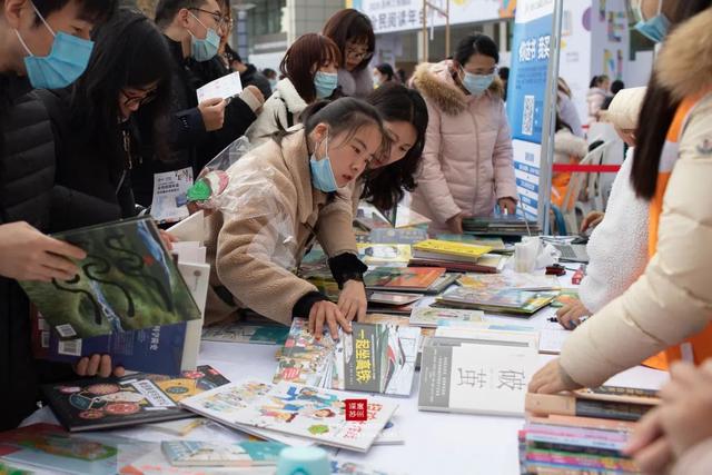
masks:
[[[229,290],[235,305],[211,288],[206,323],[250,308],[290,325],[295,304],[317,290],[294,274],[313,238],[329,257],[357,254],[350,197],[330,198],[312,187],[304,129],[290,132],[280,145],[270,140],[228,169],[226,194],[234,199],[208,219],[207,248],[211,286]]]

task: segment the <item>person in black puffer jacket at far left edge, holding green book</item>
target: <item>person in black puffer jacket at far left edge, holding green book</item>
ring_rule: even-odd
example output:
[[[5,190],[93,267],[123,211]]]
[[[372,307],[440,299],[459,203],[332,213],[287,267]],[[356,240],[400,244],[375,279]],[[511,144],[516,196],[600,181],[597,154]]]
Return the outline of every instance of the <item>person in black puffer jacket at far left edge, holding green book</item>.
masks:
[[[17,280],[71,278],[77,268],[67,258],[85,257],[42,234],[55,186],[53,138],[47,110],[28,92],[78,77],[81,61],[60,77],[46,75],[57,67],[47,57],[63,40],[57,32],[87,40],[113,9],[115,2],[106,0],[4,0],[0,12],[0,431],[16,427],[37,408],[40,380],[65,374],[32,358],[30,305]],[[26,61],[30,55],[37,59]],[[108,376],[111,363],[96,355],[76,369]]]

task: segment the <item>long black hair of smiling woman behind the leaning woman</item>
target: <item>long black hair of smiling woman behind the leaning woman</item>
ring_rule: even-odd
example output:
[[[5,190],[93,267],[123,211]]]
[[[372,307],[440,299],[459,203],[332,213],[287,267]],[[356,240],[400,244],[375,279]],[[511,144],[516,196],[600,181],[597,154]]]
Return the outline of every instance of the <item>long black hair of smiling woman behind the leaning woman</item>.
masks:
[[[384,121],[404,121],[415,127],[415,144],[405,157],[364,175],[362,198],[378,209],[388,210],[403,199],[405,191],[413,191],[416,187],[415,175],[425,147],[427,106],[419,92],[394,82],[380,86],[366,100],[378,110]]]

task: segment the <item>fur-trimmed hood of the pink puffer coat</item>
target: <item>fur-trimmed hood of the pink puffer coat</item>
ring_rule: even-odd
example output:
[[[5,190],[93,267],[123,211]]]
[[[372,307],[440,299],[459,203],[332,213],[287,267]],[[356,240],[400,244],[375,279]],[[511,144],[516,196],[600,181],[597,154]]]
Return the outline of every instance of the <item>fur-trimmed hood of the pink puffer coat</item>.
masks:
[[[463,92],[455,83],[451,73],[452,65],[451,60],[419,65],[415,70],[413,85],[423,96],[435,102],[444,113],[457,116],[467,108],[469,100],[476,98]],[[486,93],[500,99],[504,96],[504,85],[496,75]]]

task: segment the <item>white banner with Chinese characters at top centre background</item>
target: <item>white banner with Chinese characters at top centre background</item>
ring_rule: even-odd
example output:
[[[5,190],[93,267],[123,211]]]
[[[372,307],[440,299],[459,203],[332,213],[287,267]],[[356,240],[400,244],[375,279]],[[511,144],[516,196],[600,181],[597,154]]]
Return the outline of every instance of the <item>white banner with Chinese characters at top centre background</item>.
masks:
[[[428,0],[445,10],[447,0]],[[370,18],[376,33],[423,28],[423,0],[347,0],[347,8],[363,11]],[[514,17],[516,0],[449,0],[451,24],[475,23]],[[427,12],[428,27],[445,26],[445,17]]]

